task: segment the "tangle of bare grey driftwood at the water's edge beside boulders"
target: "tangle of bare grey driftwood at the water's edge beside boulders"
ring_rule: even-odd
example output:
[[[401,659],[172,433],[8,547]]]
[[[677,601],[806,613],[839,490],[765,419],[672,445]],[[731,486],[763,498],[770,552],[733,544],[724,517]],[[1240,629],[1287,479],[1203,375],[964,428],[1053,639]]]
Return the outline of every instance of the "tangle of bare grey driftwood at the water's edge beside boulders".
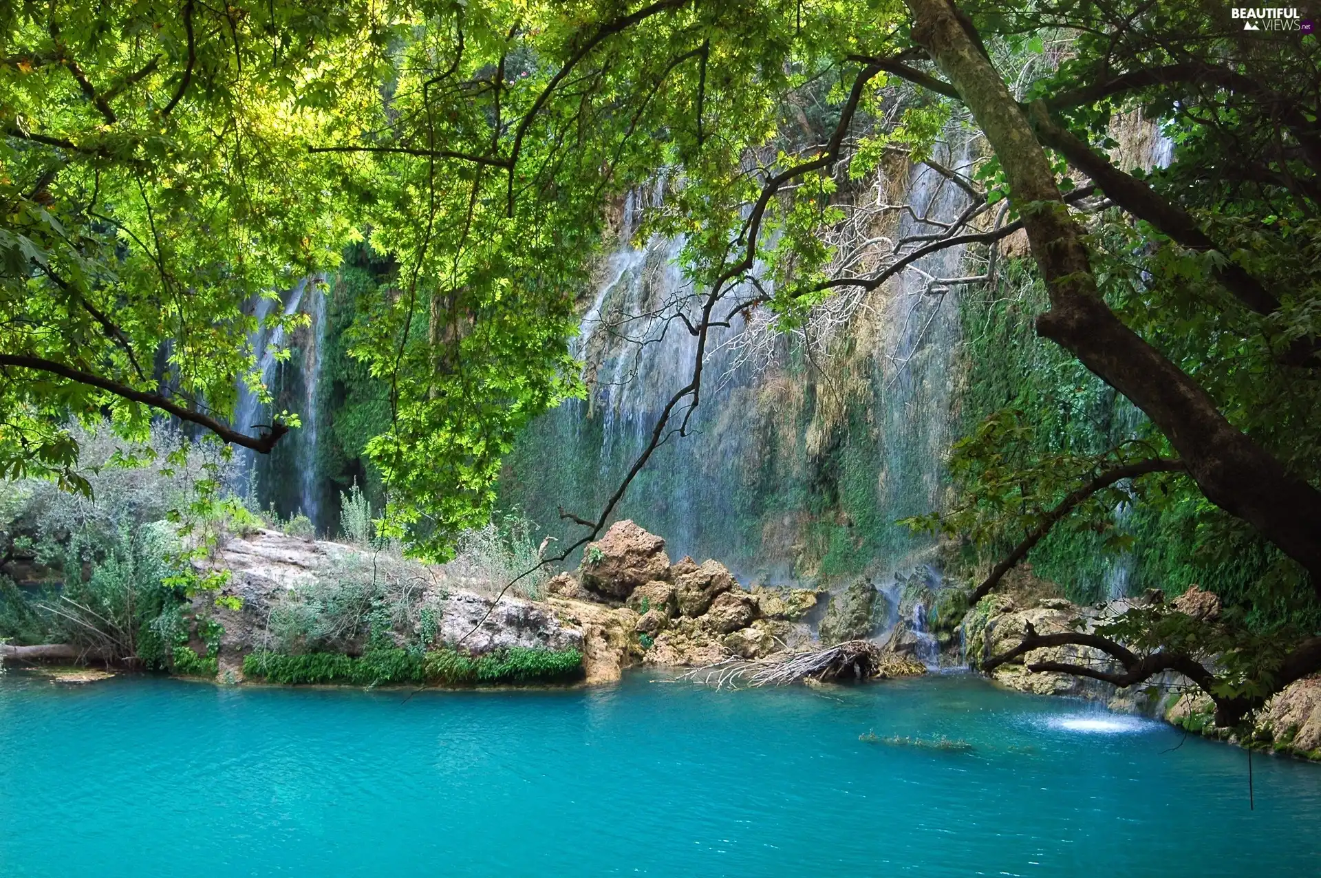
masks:
[[[758,688],[802,681],[872,680],[925,673],[922,663],[884,652],[871,640],[847,640],[824,650],[779,654],[766,659],[725,659],[694,668],[682,680],[717,689]]]

